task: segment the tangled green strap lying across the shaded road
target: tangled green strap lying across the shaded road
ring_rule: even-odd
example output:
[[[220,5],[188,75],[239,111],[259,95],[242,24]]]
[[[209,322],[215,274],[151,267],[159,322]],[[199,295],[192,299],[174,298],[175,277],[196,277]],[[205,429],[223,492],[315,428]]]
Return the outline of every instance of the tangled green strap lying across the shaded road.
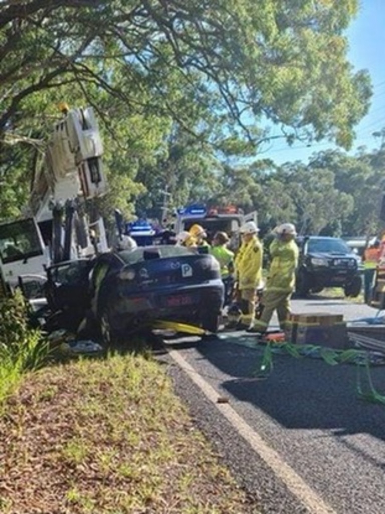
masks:
[[[256,377],[266,378],[271,373],[273,369],[274,353],[288,353],[290,356],[297,359],[302,357],[319,357],[331,366],[342,363],[354,363],[357,366],[357,396],[365,401],[381,403],[385,405],[385,395],[382,395],[376,391],[373,385],[369,352],[355,350],[354,348],[350,348],[349,350],[333,350],[333,348],[326,348],[324,346],[317,346],[313,344],[267,342],[262,356],[261,364],[259,369],[255,372]],[[384,363],[385,356],[382,364]],[[366,372],[366,382],[368,384],[368,390],[365,392],[363,391],[361,377],[363,369]]]

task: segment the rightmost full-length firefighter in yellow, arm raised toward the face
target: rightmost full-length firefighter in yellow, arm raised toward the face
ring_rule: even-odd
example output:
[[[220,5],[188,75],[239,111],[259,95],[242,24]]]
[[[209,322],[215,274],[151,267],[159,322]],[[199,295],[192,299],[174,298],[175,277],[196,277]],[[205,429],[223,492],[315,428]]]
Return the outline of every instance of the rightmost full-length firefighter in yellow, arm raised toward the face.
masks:
[[[285,329],[290,314],[290,298],[296,282],[298,246],[295,242],[296,227],[284,223],[275,230],[276,237],[270,244],[271,264],[262,298],[262,314],[247,332],[264,334],[274,310],[277,310],[281,329]]]

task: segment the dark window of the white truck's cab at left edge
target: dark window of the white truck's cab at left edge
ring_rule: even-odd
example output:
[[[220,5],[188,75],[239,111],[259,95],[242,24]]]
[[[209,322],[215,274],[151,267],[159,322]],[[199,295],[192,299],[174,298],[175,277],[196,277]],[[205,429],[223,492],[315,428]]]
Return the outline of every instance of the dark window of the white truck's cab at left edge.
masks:
[[[4,264],[43,254],[33,219],[0,225],[0,256]]]

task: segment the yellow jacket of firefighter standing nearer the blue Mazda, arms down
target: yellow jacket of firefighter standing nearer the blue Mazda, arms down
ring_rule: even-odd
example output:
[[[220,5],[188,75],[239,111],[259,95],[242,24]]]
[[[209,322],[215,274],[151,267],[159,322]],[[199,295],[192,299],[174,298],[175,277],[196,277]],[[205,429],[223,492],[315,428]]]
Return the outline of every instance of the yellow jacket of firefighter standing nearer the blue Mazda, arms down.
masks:
[[[234,262],[239,289],[255,289],[260,284],[262,256],[263,247],[256,235],[248,243],[242,243]]]

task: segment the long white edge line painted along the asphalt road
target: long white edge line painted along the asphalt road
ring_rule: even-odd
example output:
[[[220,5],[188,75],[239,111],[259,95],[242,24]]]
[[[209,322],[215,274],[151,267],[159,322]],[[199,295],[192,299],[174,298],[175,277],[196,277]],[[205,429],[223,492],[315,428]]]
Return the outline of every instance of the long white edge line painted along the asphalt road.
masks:
[[[186,359],[176,350],[169,350],[170,357],[187,373],[205,396],[230,421],[236,431],[249,443],[252,449],[265,461],[274,474],[282,480],[286,487],[304,504],[312,514],[337,514],[322,498],[311,489],[306,482],[282,460],[278,452],[270,448],[244,419],[235,412],[228,403],[218,403],[220,396],[213,387],[204,380]]]

